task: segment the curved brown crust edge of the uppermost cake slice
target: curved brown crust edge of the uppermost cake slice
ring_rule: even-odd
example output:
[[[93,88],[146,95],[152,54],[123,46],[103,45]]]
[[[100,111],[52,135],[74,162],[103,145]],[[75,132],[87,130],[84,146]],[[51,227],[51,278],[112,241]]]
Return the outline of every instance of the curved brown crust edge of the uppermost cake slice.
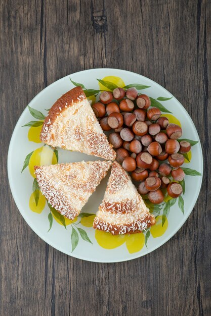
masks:
[[[45,132],[46,127],[49,129],[52,126],[58,116],[58,113],[62,113],[67,109],[67,107],[72,106],[72,104],[80,102],[81,98],[86,98],[85,93],[81,87],[75,87],[70,91],[63,94],[52,106],[49,111],[48,116],[46,117],[43,128],[40,133],[40,140],[45,142],[47,140],[48,134]]]

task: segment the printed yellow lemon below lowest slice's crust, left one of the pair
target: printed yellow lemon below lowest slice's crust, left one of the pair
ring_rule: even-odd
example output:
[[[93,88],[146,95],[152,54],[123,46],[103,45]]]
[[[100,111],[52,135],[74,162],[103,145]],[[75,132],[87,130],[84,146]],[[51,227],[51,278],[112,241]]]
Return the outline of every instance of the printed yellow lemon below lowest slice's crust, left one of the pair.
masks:
[[[114,249],[121,246],[125,242],[124,235],[112,235],[100,230],[95,231],[95,238],[98,244],[105,249]]]

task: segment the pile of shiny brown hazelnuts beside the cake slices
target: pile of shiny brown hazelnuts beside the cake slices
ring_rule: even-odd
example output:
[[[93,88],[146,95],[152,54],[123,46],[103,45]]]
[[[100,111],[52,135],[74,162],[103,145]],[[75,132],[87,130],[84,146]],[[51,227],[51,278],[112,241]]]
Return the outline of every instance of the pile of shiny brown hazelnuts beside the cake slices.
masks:
[[[181,127],[169,123],[166,117],[161,117],[159,109],[150,105],[150,98],[138,95],[132,87],[126,91],[122,88],[103,91],[92,108],[102,129],[113,129],[108,140],[116,150],[116,160],[139,181],[139,193],[148,194],[152,203],[159,204],[166,189],[173,198],[182,194],[178,182],[185,173],[180,167],[185,161],[183,154],[191,145],[187,141],[178,142]]]

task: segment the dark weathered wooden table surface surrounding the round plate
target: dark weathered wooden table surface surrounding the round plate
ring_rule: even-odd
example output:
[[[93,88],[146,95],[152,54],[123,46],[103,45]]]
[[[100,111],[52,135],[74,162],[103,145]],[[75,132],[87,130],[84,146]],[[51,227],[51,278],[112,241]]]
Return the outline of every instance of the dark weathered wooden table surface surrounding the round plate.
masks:
[[[1,315],[211,314],[210,16],[208,0],[1,2]],[[118,264],[46,244],[18,212],[7,177],[10,138],[28,102],[63,76],[98,67],[140,73],[175,95],[204,155],[184,226],[154,252]]]

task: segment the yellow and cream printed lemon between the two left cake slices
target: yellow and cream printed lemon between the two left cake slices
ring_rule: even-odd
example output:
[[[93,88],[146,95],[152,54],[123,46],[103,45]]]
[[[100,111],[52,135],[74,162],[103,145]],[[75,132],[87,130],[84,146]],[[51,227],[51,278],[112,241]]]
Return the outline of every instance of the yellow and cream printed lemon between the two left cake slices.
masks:
[[[35,178],[34,174],[34,166],[44,166],[44,165],[55,165],[57,164],[57,158],[53,151],[48,146],[43,146],[37,148],[32,153],[30,160],[29,160],[29,172],[33,178]]]

